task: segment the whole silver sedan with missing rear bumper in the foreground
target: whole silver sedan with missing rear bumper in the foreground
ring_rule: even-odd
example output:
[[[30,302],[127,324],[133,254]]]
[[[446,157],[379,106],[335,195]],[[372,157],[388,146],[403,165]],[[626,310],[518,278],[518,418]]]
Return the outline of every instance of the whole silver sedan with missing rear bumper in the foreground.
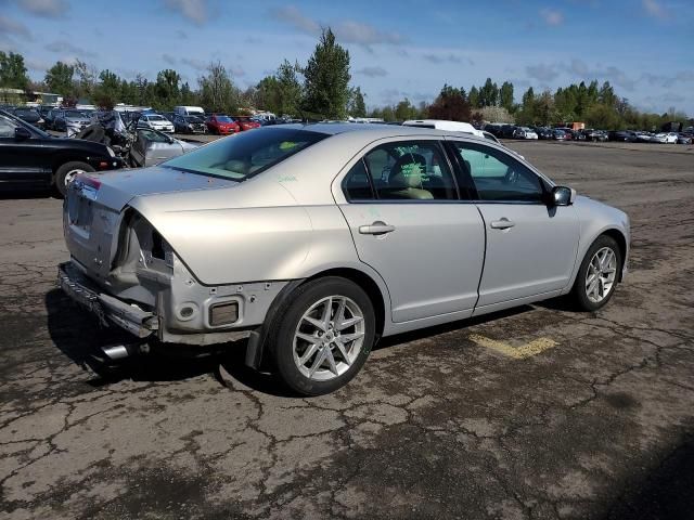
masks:
[[[158,342],[248,337],[246,363],[335,390],[384,336],[561,295],[595,311],[629,218],[488,140],[385,125],[244,132],[69,185],[59,283]],[[119,352],[113,352],[114,355]]]

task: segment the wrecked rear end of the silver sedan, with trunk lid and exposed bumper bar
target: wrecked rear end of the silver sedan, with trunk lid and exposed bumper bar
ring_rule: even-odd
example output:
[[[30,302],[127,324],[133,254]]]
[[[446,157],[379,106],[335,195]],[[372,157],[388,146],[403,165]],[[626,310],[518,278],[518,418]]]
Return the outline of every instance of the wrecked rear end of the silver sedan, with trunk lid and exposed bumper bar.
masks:
[[[118,326],[138,338],[211,344],[248,336],[244,325],[261,321],[242,312],[248,295],[260,290],[270,299],[281,287],[202,284],[132,207],[133,193],[138,197],[190,193],[235,183],[210,184],[201,176],[168,169],[147,173],[146,180],[132,180],[137,173],[123,172],[80,176],[70,183],[63,211],[70,261],[59,266],[60,287],[102,325]],[[177,182],[171,182],[172,176]]]

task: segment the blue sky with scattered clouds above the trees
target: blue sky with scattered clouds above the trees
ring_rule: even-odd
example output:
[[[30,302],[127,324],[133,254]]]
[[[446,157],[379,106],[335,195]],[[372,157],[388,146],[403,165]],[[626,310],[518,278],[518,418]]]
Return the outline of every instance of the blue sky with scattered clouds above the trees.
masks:
[[[694,0],[0,0],[0,50],[37,80],[80,58],[196,86],[219,61],[245,89],[284,58],[305,64],[327,26],[369,107],[487,77],[512,81],[516,101],[597,79],[640,109],[694,116]]]

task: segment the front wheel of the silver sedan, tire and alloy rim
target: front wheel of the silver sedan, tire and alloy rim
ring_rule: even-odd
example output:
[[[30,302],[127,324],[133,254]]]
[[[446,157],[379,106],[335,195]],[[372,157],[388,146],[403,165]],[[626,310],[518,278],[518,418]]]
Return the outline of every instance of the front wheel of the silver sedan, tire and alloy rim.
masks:
[[[614,258],[614,262],[609,261],[600,268],[600,256],[603,252],[607,255],[606,258]],[[613,237],[601,235],[593,242],[583,257],[571,289],[571,299],[579,310],[594,312],[607,304],[621,276],[621,251]],[[589,275],[597,276],[595,285],[589,284]]]

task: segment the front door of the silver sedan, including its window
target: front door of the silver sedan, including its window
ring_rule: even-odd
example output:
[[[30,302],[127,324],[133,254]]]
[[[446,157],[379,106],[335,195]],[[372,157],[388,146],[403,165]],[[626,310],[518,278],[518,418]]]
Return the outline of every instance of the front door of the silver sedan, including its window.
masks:
[[[580,231],[575,208],[548,207],[547,181],[511,154],[477,143],[453,145],[477,191],[487,230],[477,307],[511,307],[565,288]]]

